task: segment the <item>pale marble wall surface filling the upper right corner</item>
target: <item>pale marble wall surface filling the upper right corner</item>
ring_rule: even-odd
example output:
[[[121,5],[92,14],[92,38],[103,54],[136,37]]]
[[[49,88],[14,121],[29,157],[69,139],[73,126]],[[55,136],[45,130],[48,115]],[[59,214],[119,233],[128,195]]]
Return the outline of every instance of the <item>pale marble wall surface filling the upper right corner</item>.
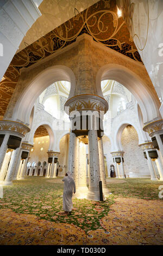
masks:
[[[125,2],[128,2],[125,4]],[[155,90],[163,100],[163,1],[117,0]],[[126,6],[125,6],[126,5]],[[124,11],[123,11],[124,8]],[[163,108],[161,114],[163,116]]]

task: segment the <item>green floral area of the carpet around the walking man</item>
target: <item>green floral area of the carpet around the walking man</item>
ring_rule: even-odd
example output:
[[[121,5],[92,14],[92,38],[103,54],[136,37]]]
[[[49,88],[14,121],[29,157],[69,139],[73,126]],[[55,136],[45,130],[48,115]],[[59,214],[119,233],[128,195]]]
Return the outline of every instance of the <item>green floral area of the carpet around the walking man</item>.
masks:
[[[71,216],[62,210],[63,182],[52,179],[29,177],[23,181],[14,181],[14,186],[4,187],[0,209],[8,208],[17,213],[28,213],[55,223],[73,223],[84,231],[96,230],[100,227],[99,220],[108,214],[109,206],[114,203],[113,197],[104,203],[86,199],[73,199]]]

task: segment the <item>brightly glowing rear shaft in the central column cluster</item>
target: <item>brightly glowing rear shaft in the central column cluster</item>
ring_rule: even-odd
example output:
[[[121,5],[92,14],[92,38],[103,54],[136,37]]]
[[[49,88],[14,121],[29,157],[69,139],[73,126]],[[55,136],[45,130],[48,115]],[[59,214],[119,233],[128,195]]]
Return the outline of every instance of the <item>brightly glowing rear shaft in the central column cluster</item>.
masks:
[[[82,141],[78,144],[78,191],[82,198],[86,198],[89,191],[86,186],[86,147]]]

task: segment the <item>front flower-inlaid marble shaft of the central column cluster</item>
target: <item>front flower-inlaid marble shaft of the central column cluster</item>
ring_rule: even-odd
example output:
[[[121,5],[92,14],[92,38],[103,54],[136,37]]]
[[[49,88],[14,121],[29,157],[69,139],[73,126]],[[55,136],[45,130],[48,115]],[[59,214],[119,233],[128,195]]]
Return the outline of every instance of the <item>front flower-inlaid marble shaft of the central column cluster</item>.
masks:
[[[99,170],[99,153],[97,130],[89,130],[89,193],[87,199],[99,201],[99,181],[101,181]],[[104,194],[103,194],[103,199]]]

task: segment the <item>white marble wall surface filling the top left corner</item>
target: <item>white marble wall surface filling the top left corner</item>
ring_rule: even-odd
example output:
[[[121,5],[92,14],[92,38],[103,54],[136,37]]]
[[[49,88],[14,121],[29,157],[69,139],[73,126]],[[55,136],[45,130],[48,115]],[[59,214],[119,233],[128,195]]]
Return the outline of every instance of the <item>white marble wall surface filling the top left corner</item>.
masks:
[[[3,52],[0,52],[0,81],[24,35],[40,15],[32,0],[1,1],[0,44],[3,45]]]

